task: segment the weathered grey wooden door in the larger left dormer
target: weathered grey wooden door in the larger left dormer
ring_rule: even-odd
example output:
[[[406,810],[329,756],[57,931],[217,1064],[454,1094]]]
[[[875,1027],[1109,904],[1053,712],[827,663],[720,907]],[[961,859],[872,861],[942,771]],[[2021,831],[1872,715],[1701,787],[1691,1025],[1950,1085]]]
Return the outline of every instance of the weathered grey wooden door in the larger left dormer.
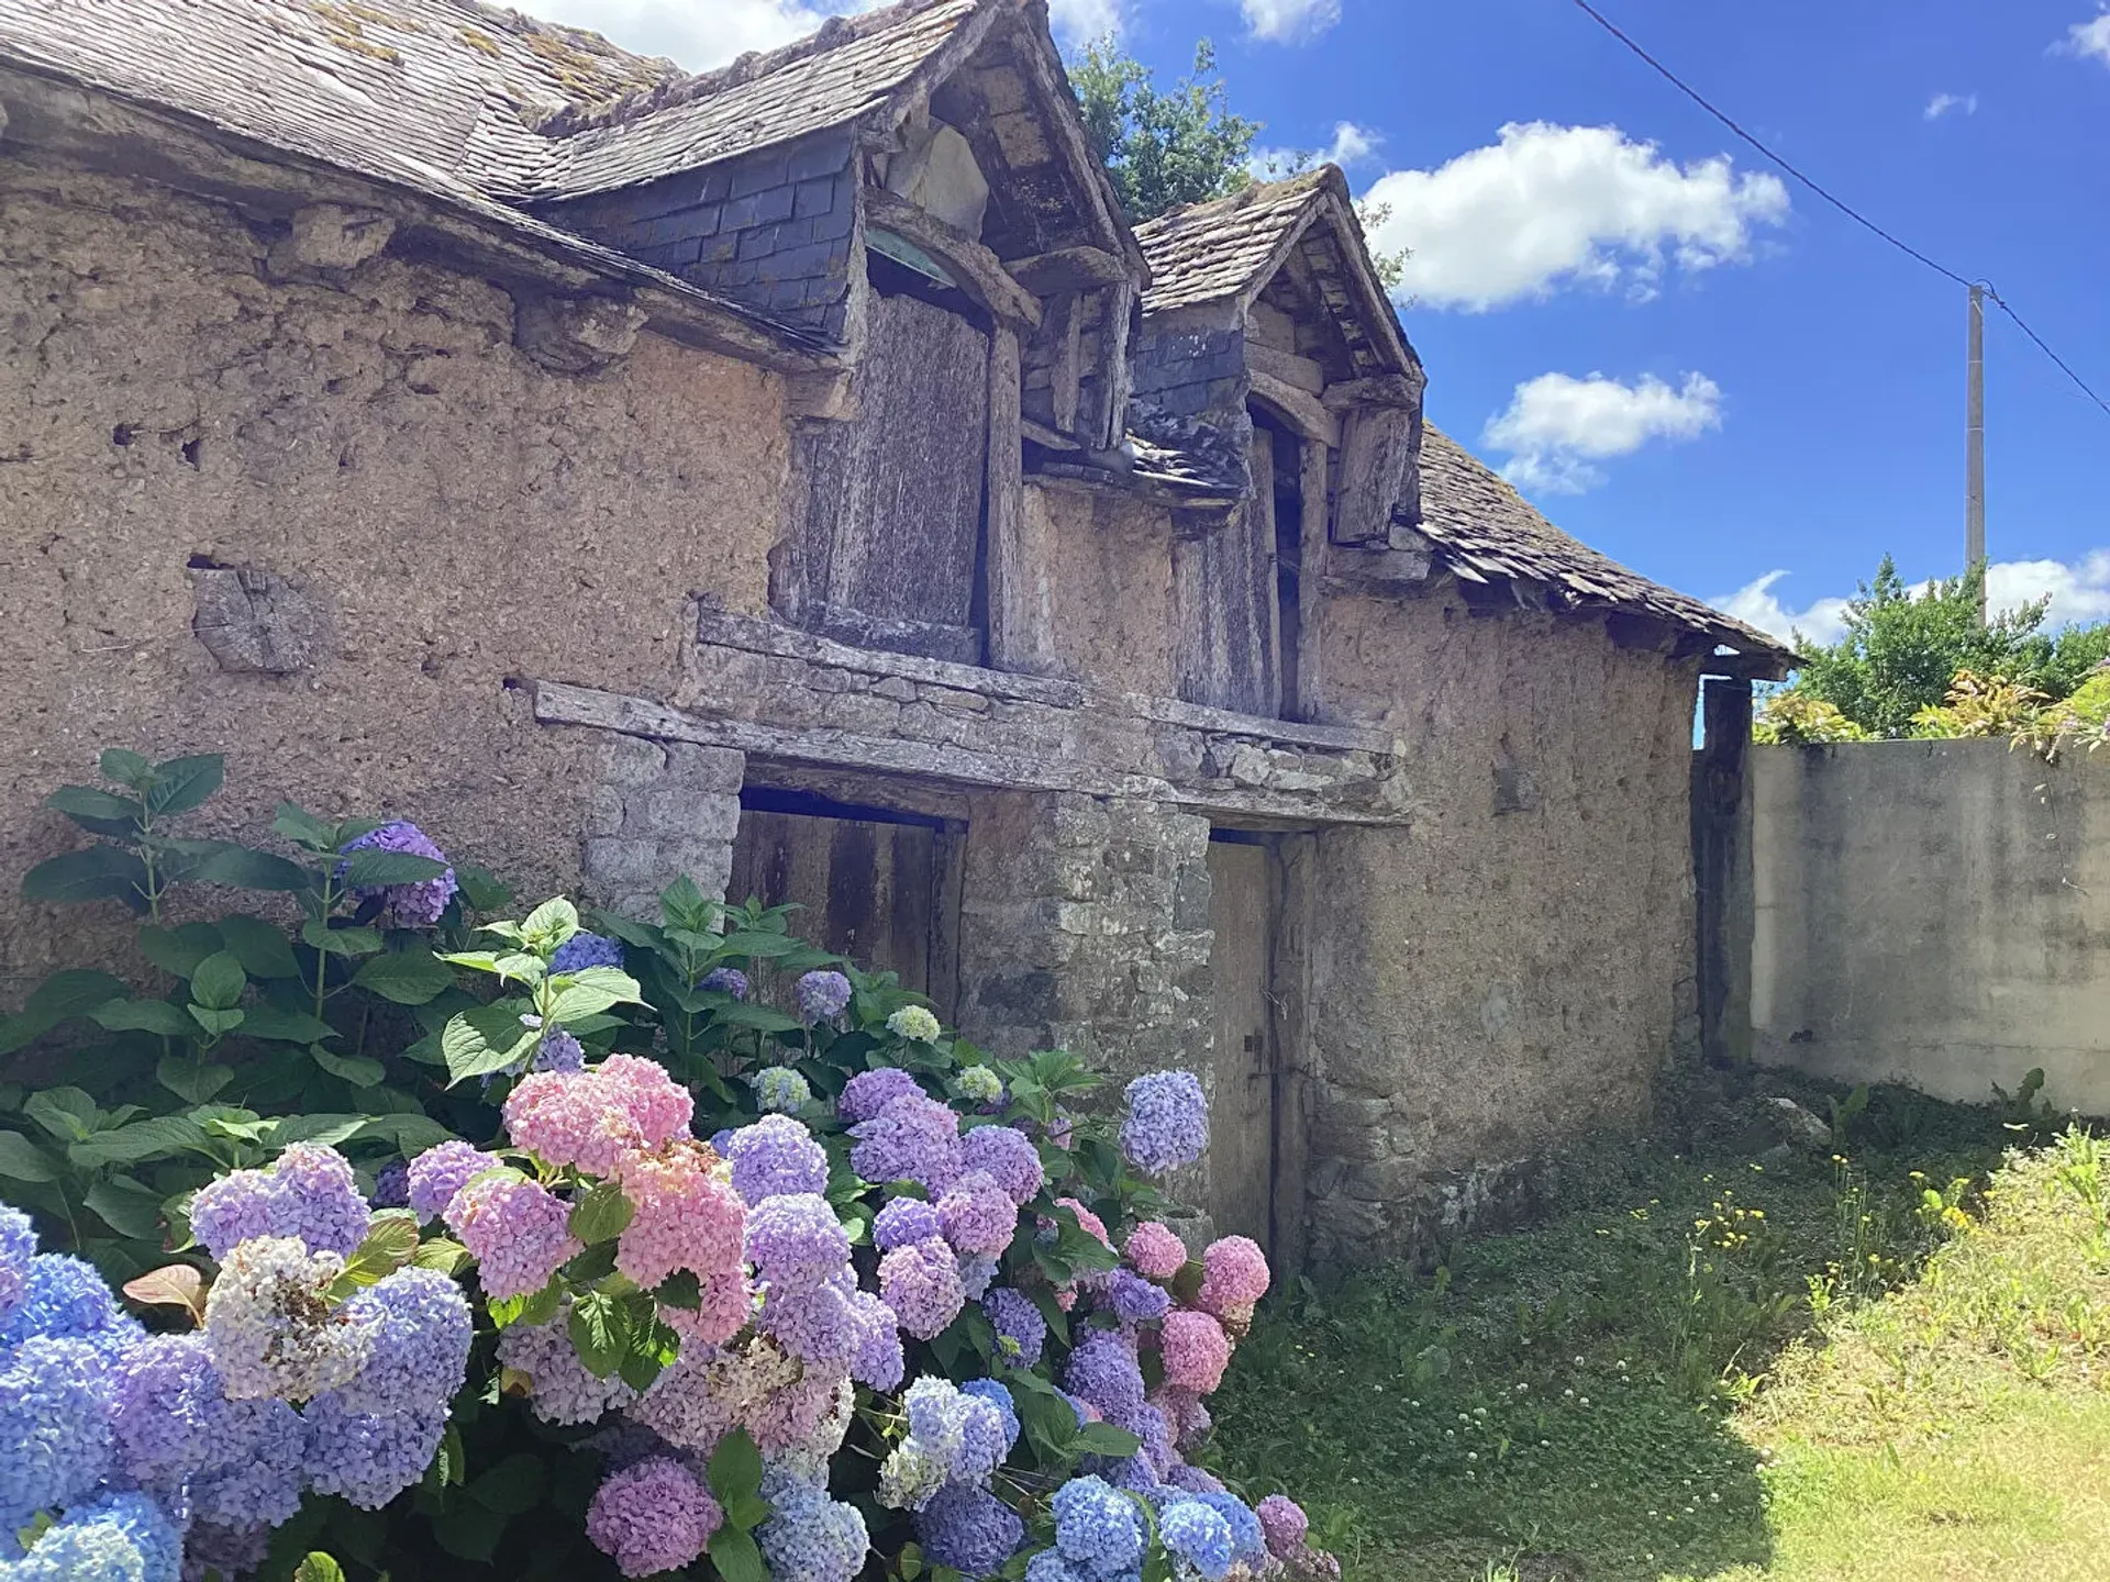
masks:
[[[981,662],[990,337],[874,295],[857,416],[800,439],[806,624],[867,648]]]

